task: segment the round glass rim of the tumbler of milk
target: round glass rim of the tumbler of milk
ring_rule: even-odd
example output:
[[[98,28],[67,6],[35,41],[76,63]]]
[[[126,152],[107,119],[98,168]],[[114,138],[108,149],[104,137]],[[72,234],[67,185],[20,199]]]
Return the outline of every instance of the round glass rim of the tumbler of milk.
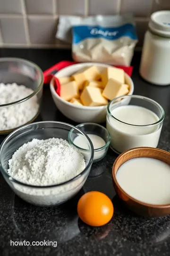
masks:
[[[121,120],[115,118],[115,117],[111,114],[111,112],[110,112],[110,105],[111,105],[112,102],[114,103],[114,101],[117,101],[118,99],[122,99],[122,98],[124,98],[124,99],[136,98],[136,99],[141,99],[141,100],[145,100],[145,101],[150,101],[150,102],[152,102],[154,105],[156,105],[156,106],[161,110],[161,118],[159,118],[159,120],[156,121],[155,123],[148,124],[148,125],[134,125],[134,124],[128,124],[128,123],[126,123],[126,122],[123,122],[123,121],[121,121]],[[116,103],[117,103],[117,102],[116,102]],[[122,106],[126,106],[126,105],[122,105]],[[133,105],[132,105],[132,106],[133,106]],[[112,101],[109,102],[109,104],[108,104],[108,106],[107,106],[107,113],[110,115],[111,118],[115,119],[116,121],[118,121],[118,122],[120,122],[120,123],[123,123],[123,124],[126,124],[126,125],[129,125],[129,126],[133,126],[133,127],[151,127],[151,126],[156,126],[156,125],[160,124],[160,123],[163,121],[163,119],[165,118],[165,112],[164,112],[162,106],[161,106],[158,102],[156,102],[156,101],[154,101],[154,100],[152,100],[152,99],[150,99],[150,98],[148,98],[148,97],[141,96],[141,95],[126,95],[126,96],[120,96],[120,97],[114,98]]]

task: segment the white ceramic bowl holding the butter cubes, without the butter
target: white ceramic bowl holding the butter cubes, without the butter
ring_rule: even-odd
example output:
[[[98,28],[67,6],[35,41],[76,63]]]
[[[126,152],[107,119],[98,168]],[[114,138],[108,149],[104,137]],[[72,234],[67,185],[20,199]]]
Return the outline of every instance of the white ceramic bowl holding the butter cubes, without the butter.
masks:
[[[92,65],[97,66],[99,70],[102,70],[103,68],[110,66],[107,64],[99,64],[99,63],[74,64],[66,68],[63,68],[58,73],[56,73],[55,76],[58,78],[71,76],[73,73],[76,73],[78,70],[87,66],[92,66]],[[127,73],[125,73],[125,82],[130,86],[130,91],[128,95],[132,95],[134,91],[134,83],[130,78],[130,76],[127,75]],[[78,106],[68,101],[65,101],[61,99],[61,97],[59,97],[59,95],[56,93],[54,89],[53,79],[51,80],[51,83],[50,83],[50,90],[51,90],[52,99],[56,104],[57,108],[67,118],[77,123],[83,123],[83,122],[102,123],[106,121],[107,106],[99,106],[99,107]],[[126,101],[126,100],[123,100],[123,101]]]

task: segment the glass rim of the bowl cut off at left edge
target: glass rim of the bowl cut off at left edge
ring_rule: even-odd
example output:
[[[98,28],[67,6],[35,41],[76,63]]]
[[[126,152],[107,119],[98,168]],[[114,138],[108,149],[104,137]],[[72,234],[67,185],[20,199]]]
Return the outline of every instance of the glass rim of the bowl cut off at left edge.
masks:
[[[8,62],[8,61],[14,61],[14,62],[24,62],[25,64],[31,64],[33,65],[36,70],[39,71],[40,73],[40,83],[38,85],[38,87],[34,90],[33,93],[29,94],[28,96],[26,96],[25,98],[19,100],[19,101],[14,101],[14,102],[10,102],[10,103],[7,103],[7,104],[2,104],[0,105],[0,108],[3,108],[3,107],[9,107],[9,106],[13,106],[13,105],[16,105],[18,103],[21,103],[21,102],[24,102],[30,98],[32,98],[34,95],[36,95],[41,89],[42,89],[42,86],[43,86],[43,72],[42,72],[42,69],[37,65],[35,64],[34,62],[32,61],[29,61],[29,60],[25,60],[25,59],[22,59],[22,58],[0,58],[0,62]]]

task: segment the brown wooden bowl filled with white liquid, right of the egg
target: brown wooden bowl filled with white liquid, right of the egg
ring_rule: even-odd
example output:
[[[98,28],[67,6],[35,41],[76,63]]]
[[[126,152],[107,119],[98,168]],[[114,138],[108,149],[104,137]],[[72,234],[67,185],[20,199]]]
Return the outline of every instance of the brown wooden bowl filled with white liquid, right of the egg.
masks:
[[[170,214],[170,153],[137,147],[119,155],[112,169],[113,185],[127,207],[139,215]]]

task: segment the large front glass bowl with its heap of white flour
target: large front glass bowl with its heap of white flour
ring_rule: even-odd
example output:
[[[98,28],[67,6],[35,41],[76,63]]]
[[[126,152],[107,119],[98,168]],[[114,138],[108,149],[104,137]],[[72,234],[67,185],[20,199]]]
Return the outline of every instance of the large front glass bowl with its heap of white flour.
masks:
[[[86,155],[68,141],[70,131],[83,137]],[[93,163],[93,144],[72,125],[35,122],[16,129],[0,147],[0,171],[23,200],[53,206],[73,197],[84,185]]]

